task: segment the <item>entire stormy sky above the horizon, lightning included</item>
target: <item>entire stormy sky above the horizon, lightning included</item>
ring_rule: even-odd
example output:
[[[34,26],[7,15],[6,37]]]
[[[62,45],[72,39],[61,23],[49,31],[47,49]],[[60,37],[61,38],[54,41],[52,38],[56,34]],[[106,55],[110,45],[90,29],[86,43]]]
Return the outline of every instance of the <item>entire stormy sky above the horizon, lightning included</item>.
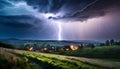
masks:
[[[120,39],[120,0],[0,0],[0,39]]]

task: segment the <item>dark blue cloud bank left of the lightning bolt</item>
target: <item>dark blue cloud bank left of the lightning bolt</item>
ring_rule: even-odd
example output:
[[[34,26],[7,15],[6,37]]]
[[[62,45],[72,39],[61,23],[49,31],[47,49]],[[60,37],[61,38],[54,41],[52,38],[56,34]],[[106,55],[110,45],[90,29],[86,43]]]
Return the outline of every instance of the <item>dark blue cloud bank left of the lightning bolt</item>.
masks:
[[[33,16],[0,16],[0,38],[49,39],[55,34],[52,29],[46,21]]]

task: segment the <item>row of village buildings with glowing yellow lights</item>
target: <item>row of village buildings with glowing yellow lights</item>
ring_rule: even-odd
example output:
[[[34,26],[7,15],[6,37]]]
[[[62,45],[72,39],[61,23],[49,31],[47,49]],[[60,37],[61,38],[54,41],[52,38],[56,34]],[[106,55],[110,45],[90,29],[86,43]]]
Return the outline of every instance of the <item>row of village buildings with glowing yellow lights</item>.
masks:
[[[80,45],[66,45],[66,46],[47,45],[45,47],[25,46],[25,49],[29,51],[37,51],[37,52],[55,52],[55,51],[69,51],[69,50],[75,51],[82,47],[83,46],[80,46]]]

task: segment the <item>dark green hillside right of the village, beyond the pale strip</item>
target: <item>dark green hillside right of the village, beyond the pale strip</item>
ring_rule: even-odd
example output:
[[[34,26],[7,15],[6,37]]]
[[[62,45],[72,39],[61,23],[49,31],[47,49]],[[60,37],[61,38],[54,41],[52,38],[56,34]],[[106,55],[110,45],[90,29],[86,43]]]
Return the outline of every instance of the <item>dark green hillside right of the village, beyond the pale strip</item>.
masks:
[[[76,51],[61,51],[53,53],[82,57],[120,58],[120,46],[99,46],[95,48],[82,48]]]

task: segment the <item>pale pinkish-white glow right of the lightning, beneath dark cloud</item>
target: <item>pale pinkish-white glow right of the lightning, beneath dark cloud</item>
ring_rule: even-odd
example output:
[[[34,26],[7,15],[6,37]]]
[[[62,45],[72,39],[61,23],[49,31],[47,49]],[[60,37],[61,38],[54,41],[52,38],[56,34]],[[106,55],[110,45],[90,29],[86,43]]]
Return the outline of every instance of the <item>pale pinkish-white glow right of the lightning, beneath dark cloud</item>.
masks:
[[[107,24],[104,17],[91,18],[87,21],[67,22],[62,25],[62,39],[67,40],[89,40],[94,38],[96,32],[101,31],[101,27]],[[108,26],[108,25],[107,25]],[[69,34],[69,35],[68,35]],[[92,38],[91,38],[92,37]]]

